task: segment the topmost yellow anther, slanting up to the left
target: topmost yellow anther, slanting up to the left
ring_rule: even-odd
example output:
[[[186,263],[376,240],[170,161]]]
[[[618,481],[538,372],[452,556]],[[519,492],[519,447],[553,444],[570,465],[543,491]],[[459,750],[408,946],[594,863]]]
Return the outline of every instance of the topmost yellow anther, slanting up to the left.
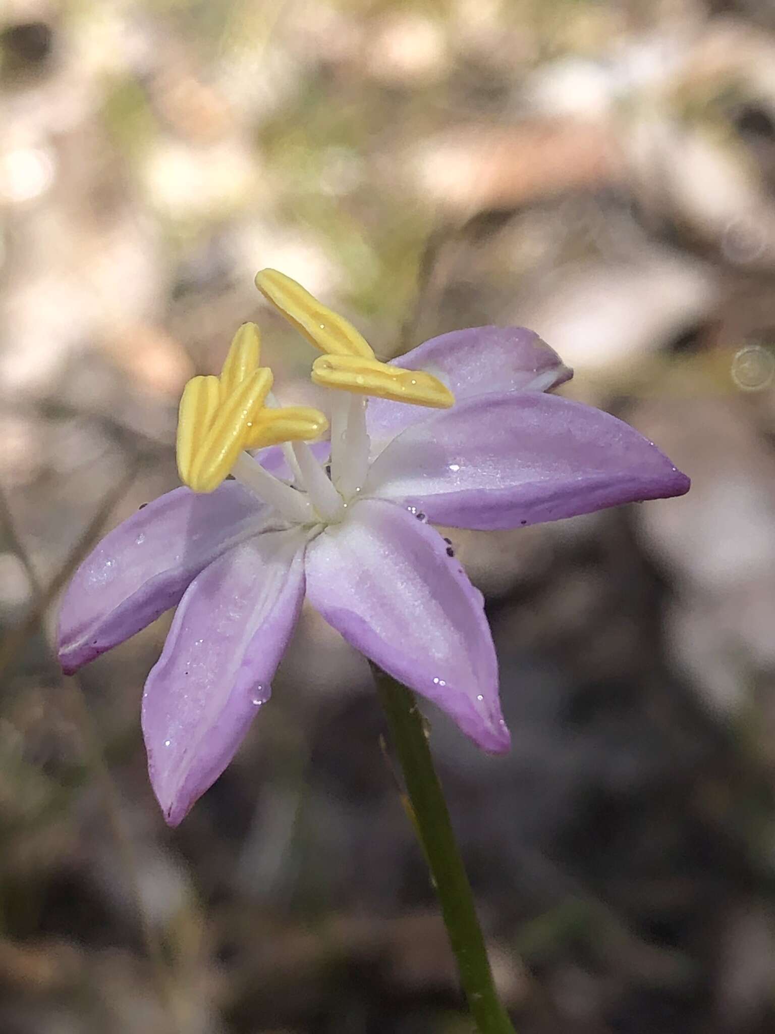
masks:
[[[373,359],[366,338],[342,316],[327,309],[308,291],[276,269],[262,269],[255,285],[297,330],[330,356],[362,356]]]

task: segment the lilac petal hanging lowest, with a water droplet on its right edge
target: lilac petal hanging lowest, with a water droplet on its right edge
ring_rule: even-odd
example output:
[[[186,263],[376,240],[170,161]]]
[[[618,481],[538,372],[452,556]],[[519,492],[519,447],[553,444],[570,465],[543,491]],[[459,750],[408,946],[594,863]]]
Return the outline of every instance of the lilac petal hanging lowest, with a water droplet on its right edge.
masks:
[[[189,585],[143,694],[151,783],[176,826],[242,742],[304,599],[299,529],[229,550]]]

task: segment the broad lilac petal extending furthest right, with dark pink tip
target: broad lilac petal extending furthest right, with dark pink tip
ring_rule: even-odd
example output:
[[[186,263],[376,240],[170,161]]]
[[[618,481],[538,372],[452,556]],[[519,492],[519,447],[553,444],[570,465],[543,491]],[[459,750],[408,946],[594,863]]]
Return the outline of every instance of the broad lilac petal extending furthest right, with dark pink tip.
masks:
[[[557,395],[469,399],[394,438],[364,495],[430,521],[490,530],[668,498],[689,479],[652,442],[601,409]]]

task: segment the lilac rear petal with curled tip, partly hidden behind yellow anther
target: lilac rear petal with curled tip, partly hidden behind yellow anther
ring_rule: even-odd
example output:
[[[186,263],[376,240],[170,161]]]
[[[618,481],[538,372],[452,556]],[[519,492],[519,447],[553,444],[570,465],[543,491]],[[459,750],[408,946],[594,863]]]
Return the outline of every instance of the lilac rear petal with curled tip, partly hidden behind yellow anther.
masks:
[[[526,327],[455,330],[432,337],[392,363],[433,373],[458,402],[490,392],[549,391],[574,375],[554,348]],[[427,416],[420,405],[371,399],[367,422],[375,450]]]

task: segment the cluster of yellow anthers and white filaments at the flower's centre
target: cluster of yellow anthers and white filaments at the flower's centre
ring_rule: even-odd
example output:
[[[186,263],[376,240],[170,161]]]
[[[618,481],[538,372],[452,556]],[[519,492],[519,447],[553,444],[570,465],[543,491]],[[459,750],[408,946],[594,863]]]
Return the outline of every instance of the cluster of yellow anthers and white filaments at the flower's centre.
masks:
[[[272,371],[259,365],[258,328],[248,323],[237,331],[220,375],[193,377],[184,389],[177,445],[181,480],[195,492],[212,492],[231,474],[293,523],[341,521],[369,469],[367,397],[437,408],[452,405],[455,397],[430,373],[380,362],[354,327],[283,273],[262,270],[256,284],[324,354],[313,364],[312,379],[336,389],[330,476],[307,445],[328,430],[328,420],[309,406],[278,405]],[[273,477],[248,452],[278,445],[290,484]]]

